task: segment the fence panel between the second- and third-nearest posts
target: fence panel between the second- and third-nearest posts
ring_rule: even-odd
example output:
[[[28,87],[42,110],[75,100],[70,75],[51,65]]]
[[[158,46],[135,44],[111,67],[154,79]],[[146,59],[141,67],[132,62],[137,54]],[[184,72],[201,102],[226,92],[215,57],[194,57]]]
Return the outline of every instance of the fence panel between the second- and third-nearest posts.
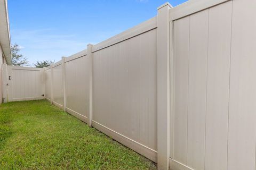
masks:
[[[89,123],[89,58],[66,58],[66,111]]]

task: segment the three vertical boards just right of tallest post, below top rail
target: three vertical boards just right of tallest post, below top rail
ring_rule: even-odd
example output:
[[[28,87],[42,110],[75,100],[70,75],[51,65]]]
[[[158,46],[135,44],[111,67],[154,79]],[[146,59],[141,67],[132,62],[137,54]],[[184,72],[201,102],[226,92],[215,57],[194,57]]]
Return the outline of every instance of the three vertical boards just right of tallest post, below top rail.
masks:
[[[193,169],[226,169],[232,2],[174,21],[171,157]]]

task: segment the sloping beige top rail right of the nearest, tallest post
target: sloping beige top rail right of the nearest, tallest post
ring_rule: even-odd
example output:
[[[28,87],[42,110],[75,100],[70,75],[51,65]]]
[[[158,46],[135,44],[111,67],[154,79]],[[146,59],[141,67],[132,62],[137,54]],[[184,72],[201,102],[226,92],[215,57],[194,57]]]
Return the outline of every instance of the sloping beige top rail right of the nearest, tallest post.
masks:
[[[169,18],[170,21],[178,20],[227,1],[231,0],[190,0],[171,8],[169,10]]]

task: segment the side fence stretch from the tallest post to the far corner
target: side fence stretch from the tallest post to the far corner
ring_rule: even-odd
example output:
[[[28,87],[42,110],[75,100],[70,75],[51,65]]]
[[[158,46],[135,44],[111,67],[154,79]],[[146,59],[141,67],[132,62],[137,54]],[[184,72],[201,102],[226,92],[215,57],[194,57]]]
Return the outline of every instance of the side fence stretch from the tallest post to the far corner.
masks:
[[[157,162],[156,82],[153,18],[45,68],[45,97]]]

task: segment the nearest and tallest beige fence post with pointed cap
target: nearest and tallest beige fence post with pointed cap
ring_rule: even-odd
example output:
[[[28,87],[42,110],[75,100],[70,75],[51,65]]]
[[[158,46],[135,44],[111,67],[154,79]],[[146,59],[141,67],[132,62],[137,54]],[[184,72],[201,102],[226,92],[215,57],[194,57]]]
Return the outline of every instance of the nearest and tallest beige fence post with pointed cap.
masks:
[[[157,8],[157,166],[169,169],[170,157],[170,21],[165,3]]]

